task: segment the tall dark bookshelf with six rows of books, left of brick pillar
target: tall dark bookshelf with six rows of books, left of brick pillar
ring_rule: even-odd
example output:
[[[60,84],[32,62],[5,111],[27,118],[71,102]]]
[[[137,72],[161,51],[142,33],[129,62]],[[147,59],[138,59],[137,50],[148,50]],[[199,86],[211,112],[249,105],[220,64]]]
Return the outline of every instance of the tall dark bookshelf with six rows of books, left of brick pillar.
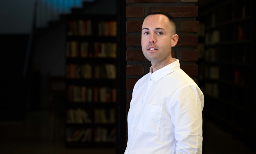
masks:
[[[117,34],[114,15],[66,18],[66,147],[116,145]]]

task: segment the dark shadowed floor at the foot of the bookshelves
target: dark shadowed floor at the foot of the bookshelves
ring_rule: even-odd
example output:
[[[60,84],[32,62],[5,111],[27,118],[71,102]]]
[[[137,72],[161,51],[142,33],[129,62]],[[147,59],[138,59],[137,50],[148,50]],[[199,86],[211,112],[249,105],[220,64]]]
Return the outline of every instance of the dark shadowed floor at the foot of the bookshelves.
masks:
[[[115,149],[66,149],[64,117],[28,113],[24,122],[0,122],[0,154],[115,154]],[[203,154],[255,154],[204,120]]]

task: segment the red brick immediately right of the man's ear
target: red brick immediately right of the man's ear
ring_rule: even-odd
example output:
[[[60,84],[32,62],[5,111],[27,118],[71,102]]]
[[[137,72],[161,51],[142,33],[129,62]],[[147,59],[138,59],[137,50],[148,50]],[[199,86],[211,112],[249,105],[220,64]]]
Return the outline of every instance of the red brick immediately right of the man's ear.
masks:
[[[196,47],[197,45],[197,35],[180,35],[176,47]]]

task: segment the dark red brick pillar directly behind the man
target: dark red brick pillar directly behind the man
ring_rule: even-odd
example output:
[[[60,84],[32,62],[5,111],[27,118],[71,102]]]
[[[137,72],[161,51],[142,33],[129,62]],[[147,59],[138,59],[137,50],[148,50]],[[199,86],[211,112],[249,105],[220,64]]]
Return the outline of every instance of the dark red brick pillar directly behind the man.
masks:
[[[141,48],[141,29],[145,15],[153,10],[160,10],[172,15],[176,21],[178,43],[172,47],[172,58],[180,60],[180,68],[198,83],[198,0],[126,0],[126,103],[128,113],[132,90],[135,83],[149,72],[151,66]],[[127,115],[127,114],[126,114]],[[126,124],[127,125],[127,124]],[[126,127],[127,128],[127,127]],[[127,130],[127,129],[126,129]],[[126,131],[127,133],[127,131]],[[127,138],[126,138],[127,139]],[[126,140],[127,142],[127,140]]]

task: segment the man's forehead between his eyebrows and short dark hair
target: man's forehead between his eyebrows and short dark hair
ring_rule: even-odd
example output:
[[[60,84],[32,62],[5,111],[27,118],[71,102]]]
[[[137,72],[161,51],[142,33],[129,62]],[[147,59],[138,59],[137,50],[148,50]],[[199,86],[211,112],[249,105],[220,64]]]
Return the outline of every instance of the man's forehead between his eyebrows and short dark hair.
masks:
[[[149,29],[155,29],[155,28],[164,28],[164,29],[170,29],[169,19],[162,15],[162,14],[155,14],[147,16],[142,24],[142,28],[149,28]]]

